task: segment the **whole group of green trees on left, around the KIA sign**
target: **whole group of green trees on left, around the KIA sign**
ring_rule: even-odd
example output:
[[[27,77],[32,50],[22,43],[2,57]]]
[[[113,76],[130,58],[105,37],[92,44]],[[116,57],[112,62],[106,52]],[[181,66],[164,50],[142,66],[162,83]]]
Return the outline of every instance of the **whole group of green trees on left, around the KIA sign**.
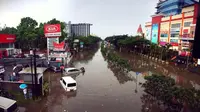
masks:
[[[44,38],[44,24],[61,24],[62,36],[60,41],[67,37],[67,33],[64,32],[66,23],[55,18],[44,23],[38,23],[31,17],[24,17],[17,27],[5,27],[0,33],[16,35],[16,48],[23,50],[32,47],[44,49],[47,46],[46,38]]]

